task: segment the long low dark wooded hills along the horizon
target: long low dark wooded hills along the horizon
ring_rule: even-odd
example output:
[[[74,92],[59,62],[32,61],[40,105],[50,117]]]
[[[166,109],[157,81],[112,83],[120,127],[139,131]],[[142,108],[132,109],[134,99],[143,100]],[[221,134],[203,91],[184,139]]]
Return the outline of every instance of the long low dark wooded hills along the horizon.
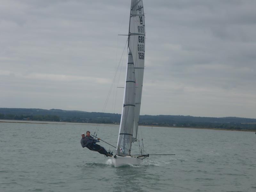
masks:
[[[119,124],[121,114],[62,109],[0,108],[0,119]],[[194,117],[141,115],[140,125],[256,130],[256,119],[240,117]]]

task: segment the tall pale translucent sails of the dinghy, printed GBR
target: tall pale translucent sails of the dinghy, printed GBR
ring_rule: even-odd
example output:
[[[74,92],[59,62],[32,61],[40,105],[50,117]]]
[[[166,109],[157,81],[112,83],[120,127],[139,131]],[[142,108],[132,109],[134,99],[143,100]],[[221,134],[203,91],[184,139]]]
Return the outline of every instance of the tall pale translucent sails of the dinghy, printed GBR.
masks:
[[[137,139],[145,58],[145,18],[142,0],[132,0],[124,106],[116,155],[129,156]]]

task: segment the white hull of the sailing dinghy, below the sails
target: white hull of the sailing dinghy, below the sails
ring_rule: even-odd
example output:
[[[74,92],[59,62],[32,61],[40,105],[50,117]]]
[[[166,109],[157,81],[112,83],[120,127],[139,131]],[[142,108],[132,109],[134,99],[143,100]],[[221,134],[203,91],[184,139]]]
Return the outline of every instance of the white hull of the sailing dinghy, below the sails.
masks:
[[[112,162],[115,167],[120,167],[124,165],[140,165],[142,163],[142,159],[131,156],[114,156],[112,157]]]

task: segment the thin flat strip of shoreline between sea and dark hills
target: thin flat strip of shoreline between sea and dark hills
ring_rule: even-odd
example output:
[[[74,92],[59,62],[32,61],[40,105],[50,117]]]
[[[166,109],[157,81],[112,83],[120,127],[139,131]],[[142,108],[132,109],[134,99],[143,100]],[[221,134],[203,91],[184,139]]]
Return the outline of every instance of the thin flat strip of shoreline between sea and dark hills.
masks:
[[[72,123],[72,122],[54,122],[54,121],[31,121],[31,120],[0,120],[0,123],[28,123],[28,124],[76,124],[76,125],[104,125],[104,126],[119,126],[119,124],[96,124],[96,123]],[[238,130],[238,129],[217,129],[217,128],[203,128],[203,127],[178,127],[178,126],[156,126],[156,125],[139,125],[144,127],[167,127],[167,128],[187,128],[187,129],[211,129],[220,131],[245,131],[255,132],[255,130]]]

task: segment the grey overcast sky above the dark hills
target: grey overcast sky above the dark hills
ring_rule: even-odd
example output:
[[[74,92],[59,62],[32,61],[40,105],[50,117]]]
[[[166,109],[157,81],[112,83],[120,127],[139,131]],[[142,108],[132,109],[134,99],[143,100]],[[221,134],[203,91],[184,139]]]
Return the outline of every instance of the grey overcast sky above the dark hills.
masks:
[[[1,0],[0,107],[121,113],[130,4]],[[256,1],[143,4],[140,114],[256,118]]]

